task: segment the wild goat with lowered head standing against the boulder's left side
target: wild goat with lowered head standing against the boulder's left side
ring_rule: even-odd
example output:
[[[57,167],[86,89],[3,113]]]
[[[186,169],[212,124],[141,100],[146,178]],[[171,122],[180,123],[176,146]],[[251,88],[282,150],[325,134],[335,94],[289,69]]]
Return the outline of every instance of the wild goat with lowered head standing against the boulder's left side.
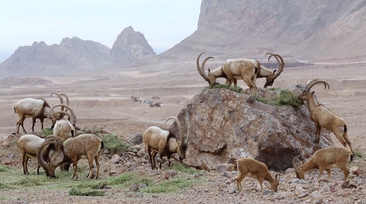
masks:
[[[170,166],[170,157],[172,154],[178,153],[180,162],[182,162],[182,160],[186,158],[190,128],[189,120],[188,118],[184,118],[184,122],[187,125],[187,137],[185,138],[182,124],[180,124],[178,118],[175,116],[171,116],[165,121],[165,123],[167,123],[169,119],[173,119],[177,123],[180,134],[180,141],[178,141],[176,136],[171,131],[165,130],[157,126],[151,126],[147,128],[147,130],[142,135],[145,149],[149,154],[149,161],[152,170],[156,168],[155,156],[157,153],[159,153],[160,158],[159,169],[161,169],[161,163],[163,163],[163,156],[168,157],[168,166]]]

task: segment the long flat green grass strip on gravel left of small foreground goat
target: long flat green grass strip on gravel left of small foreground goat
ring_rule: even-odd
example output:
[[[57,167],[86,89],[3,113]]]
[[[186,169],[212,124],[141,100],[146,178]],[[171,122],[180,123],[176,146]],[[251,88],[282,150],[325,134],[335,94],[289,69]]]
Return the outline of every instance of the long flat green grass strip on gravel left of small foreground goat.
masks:
[[[145,193],[175,193],[184,188],[190,188],[196,184],[199,184],[200,179],[187,177],[171,178],[166,181],[161,181],[160,183],[149,186],[147,188],[141,189],[140,192]]]

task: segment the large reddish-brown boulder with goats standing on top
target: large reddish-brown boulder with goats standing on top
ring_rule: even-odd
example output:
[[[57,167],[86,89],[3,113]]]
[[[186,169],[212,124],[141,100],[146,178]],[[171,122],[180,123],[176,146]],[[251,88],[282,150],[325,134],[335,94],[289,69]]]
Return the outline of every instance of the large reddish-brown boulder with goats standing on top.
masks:
[[[290,90],[298,94],[304,88],[296,84]],[[272,98],[275,93],[258,88],[258,95]],[[292,167],[296,155],[306,159],[333,146],[323,130],[320,142],[314,142],[315,125],[306,105],[274,107],[227,89],[208,89],[194,96],[178,115],[181,121],[184,117],[191,124],[184,162],[205,170],[242,157],[264,162],[272,170],[285,170]],[[176,123],[171,130],[179,135]]]

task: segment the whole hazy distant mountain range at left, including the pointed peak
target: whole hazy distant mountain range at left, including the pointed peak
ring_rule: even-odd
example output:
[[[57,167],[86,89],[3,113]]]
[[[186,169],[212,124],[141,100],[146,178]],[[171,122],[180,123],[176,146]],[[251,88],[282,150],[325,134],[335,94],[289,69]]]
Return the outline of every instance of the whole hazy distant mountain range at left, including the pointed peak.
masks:
[[[18,49],[0,64],[0,70],[19,75],[83,73],[100,70],[111,63],[122,66],[156,55],[145,37],[131,26],[118,35],[112,49],[78,37],[64,38],[59,45],[34,42]]]

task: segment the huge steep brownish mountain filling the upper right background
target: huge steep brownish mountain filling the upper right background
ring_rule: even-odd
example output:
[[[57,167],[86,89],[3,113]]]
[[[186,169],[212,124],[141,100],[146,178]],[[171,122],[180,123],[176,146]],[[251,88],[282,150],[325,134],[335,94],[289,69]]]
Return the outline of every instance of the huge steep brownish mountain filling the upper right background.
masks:
[[[311,56],[355,56],[366,49],[366,1],[202,0],[197,30],[161,59],[205,51],[225,57],[267,51]]]

